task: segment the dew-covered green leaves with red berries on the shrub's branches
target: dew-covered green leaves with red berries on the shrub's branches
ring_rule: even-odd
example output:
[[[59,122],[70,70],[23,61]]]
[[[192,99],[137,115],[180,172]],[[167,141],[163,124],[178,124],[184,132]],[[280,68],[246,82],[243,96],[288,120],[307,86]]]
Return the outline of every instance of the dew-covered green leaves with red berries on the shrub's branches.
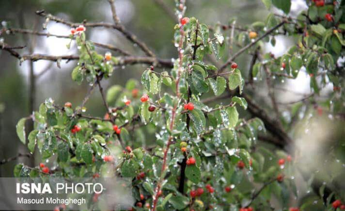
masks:
[[[263,0],[263,3],[267,8],[273,5],[285,14],[291,9],[290,0]],[[272,80],[275,77],[279,80],[283,77],[295,79],[302,70],[311,76],[310,87],[315,94],[329,81],[334,86],[342,84],[343,79],[336,74],[337,62],[344,55],[345,41],[342,32],[333,30],[345,28],[341,12],[344,3],[339,7],[327,6],[328,9],[316,8],[309,1],[308,5],[307,11],[301,12],[298,18],[269,14],[265,22],[251,24],[245,30],[255,32],[254,39],[243,30],[234,32],[231,42],[244,47],[242,52],[260,54],[258,60],[253,60],[249,73],[244,68],[240,70],[225,65],[218,69],[207,64],[206,56],[219,61],[230,58],[227,64],[236,59],[227,52],[232,43],[218,25],[212,28],[191,17],[186,25],[174,28],[173,40],[180,51],[173,68],[160,72],[147,68],[143,70],[140,82],[130,80],[125,87],[110,86],[103,99],[109,106],[104,117],[85,115],[84,103],[74,109],[59,107],[52,99],[42,103],[39,111],[31,116],[35,126],[28,136],[30,152],[33,153],[37,146],[42,159],[57,159],[57,165],[62,168],[52,173],[54,175],[87,177],[102,173],[102,176],[108,176],[102,169],[111,168],[119,177],[132,181],[133,195],[138,201],[138,193],[144,193],[147,196],[145,202],[157,202],[157,210],[207,210],[211,206],[217,210],[237,210],[249,204],[269,210],[271,195],[277,195],[276,203],[280,203],[282,210],[287,210],[290,194],[297,195],[295,181],[285,179],[278,184],[275,178],[278,174],[292,176],[293,163],[286,162],[285,168],[280,168],[277,160],[286,158],[286,154],[258,145],[257,140],[266,133],[264,121],[255,116],[248,118],[244,112],[248,108],[260,113],[261,108],[253,108],[243,92],[246,85],[253,82],[248,78],[256,80],[266,74],[267,78],[274,76]],[[325,12],[332,12],[337,24],[319,20]],[[273,27],[276,29],[269,35],[258,39]],[[264,43],[274,46],[276,35],[287,34],[296,38],[296,45],[282,56],[261,52],[260,47]],[[75,38],[79,61],[71,77],[78,84],[84,80],[94,84],[107,79],[114,66],[121,64],[121,57],[106,61],[84,32]],[[139,99],[142,94],[148,94],[149,99],[142,102]],[[221,103],[212,100],[212,97],[220,99],[217,97],[223,95]],[[344,94],[341,95],[340,99],[330,99],[333,105],[342,102]],[[211,97],[211,100],[206,97]],[[207,101],[211,103],[206,104]],[[329,108],[333,106],[330,104]],[[289,118],[295,118],[301,107],[294,106]],[[265,117],[263,114],[257,116]],[[16,126],[23,144],[26,144],[24,125],[27,119],[20,119]],[[275,127],[275,124],[277,127],[289,126],[287,120],[275,121],[267,129]],[[53,156],[55,153],[57,158]],[[109,156],[112,159],[108,160]],[[194,158],[195,163],[186,162],[189,158]],[[111,167],[108,162],[111,162]],[[244,166],[240,165],[242,162]],[[69,165],[82,167],[73,171],[63,168]],[[142,173],[144,179],[140,177]],[[47,177],[39,168],[22,164],[16,165],[14,175]],[[184,176],[186,179],[181,180]],[[264,185],[256,196],[250,191],[253,183]],[[211,185],[215,193],[204,193],[197,199],[189,197],[190,191],[206,184]],[[235,189],[231,193],[223,191],[224,187],[232,184]],[[162,191],[161,195],[158,190]],[[157,196],[159,199],[155,202]],[[303,206],[309,208],[309,205]]]

